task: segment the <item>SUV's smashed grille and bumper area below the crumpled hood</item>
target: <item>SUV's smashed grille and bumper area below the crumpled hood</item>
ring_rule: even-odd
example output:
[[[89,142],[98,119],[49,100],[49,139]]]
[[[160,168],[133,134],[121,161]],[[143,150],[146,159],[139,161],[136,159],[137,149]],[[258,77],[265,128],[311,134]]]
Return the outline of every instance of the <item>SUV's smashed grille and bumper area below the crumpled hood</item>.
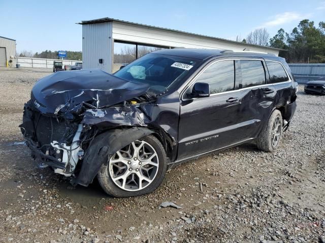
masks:
[[[20,129],[39,167],[50,166],[55,173],[71,176],[95,131],[81,119],[67,120],[42,114],[30,100],[24,106]]]

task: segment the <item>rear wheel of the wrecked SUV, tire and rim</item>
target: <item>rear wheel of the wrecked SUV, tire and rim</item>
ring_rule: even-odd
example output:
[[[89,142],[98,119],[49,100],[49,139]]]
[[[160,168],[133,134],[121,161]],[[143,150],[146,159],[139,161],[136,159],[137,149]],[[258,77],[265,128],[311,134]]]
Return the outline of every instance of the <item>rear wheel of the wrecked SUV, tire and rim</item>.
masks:
[[[256,139],[258,149],[272,152],[280,144],[282,135],[282,115],[279,110],[274,110],[266,126]]]

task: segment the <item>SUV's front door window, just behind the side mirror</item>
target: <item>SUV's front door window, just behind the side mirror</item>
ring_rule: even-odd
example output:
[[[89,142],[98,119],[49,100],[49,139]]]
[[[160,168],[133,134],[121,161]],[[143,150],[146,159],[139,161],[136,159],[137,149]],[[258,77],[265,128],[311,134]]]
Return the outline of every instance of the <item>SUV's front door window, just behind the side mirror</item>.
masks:
[[[209,66],[196,80],[196,83],[208,83],[211,94],[234,90],[234,60],[220,61]]]

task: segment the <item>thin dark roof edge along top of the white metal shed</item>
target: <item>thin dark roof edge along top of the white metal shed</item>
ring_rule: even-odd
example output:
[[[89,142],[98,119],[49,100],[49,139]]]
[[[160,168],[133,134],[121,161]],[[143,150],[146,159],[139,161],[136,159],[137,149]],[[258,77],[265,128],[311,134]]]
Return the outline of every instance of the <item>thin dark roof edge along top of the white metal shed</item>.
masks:
[[[203,35],[203,34],[194,34],[191,32],[186,32],[186,31],[181,31],[177,29],[169,29],[169,28],[163,28],[163,27],[157,27],[153,25],[147,25],[147,24],[139,24],[139,23],[134,23],[134,22],[129,22],[129,21],[124,21],[120,19],[113,19],[113,18],[101,18],[101,19],[92,19],[92,20],[83,20],[77,24],[97,24],[97,23],[105,23],[105,22],[120,22],[120,23],[126,23],[126,24],[134,24],[134,25],[139,25],[139,26],[144,26],[144,27],[149,27],[149,28],[155,28],[155,29],[161,29],[161,30],[169,30],[169,31],[174,31],[174,32],[179,32],[183,34],[192,34],[200,37],[206,37],[206,38],[211,38],[211,39],[218,39],[219,41],[224,41],[224,42],[232,42],[232,43],[237,43],[237,44],[242,44],[245,46],[252,46],[252,47],[262,47],[262,48],[268,48],[268,49],[273,49],[273,50],[278,50],[278,51],[284,51],[284,49],[279,49],[279,48],[273,48],[273,47],[266,47],[266,46],[261,46],[261,45],[255,45],[255,44],[247,44],[243,42],[236,42],[232,41],[230,39],[224,39],[224,38],[218,38],[218,37],[213,37],[209,35]]]

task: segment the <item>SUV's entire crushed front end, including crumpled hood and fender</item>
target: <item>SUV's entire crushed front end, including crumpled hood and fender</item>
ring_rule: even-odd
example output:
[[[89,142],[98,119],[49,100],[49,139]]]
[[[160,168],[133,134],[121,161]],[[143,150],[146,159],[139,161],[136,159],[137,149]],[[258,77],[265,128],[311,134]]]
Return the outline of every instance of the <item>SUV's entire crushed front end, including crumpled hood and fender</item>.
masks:
[[[19,127],[39,167],[74,178],[82,171],[84,176],[91,168],[83,168],[83,159],[89,164],[99,153],[89,152],[98,135],[114,128],[147,126],[140,108],[142,101],[150,102],[147,90],[147,85],[134,85],[101,70],[57,72],[33,87]],[[89,184],[93,171],[78,181]]]

